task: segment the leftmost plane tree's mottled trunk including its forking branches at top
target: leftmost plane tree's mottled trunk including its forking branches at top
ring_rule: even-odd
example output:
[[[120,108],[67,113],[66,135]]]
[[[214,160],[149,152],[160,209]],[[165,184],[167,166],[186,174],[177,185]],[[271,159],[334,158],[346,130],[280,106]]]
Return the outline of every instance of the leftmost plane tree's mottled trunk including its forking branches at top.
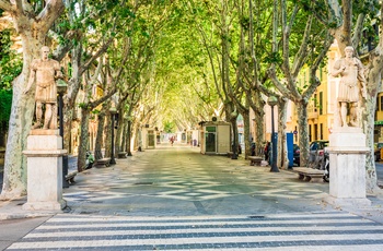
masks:
[[[26,95],[23,94],[23,91],[28,82],[31,61],[39,58],[47,32],[55,20],[60,16],[63,4],[61,0],[51,0],[46,3],[40,13],[26,11],[31,8],[30,3],[21,4],[21,1],[1,1],[0,8],[11,14],[23,46],[23,70],[13,81],[13,99],[1,192],[1,199],[9,200],[26,193],[26,158],[22,155],[22,151],[26,147],[26,138],[32,125],[35,92],[34,86],[33,92]]]

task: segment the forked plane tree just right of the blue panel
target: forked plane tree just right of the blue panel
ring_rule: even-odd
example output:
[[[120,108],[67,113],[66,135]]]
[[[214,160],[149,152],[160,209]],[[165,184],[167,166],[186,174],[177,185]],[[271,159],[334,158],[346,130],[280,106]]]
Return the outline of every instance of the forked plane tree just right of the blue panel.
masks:
[[[274,19],[272,48],[269,52],[268,76],[280,96],[292,100],[298,107],[299,145],[301,165],[309,159],[307,105],[316,87],[321,84],[317,70],[326,57],[333,41],[328,29],[295,3],[274,1],[280,16]],[[302,32],[303,31],[303,32]],[[309,68],[310,81],[299,84],[298,76]],[[279,101],[283,104],[283,100]],[[278,110],[286,118],[286,108]],[[285,135],[286,119],[279,120],[279,134]],[[286,143],[281,143],[286,145]]]

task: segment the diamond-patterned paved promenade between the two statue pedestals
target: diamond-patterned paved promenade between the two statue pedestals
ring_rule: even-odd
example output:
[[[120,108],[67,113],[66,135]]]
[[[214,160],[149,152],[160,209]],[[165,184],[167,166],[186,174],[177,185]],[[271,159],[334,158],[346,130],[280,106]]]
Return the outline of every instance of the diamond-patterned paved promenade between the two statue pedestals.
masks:
[[[333,208],[322,200],[328,183],[298,180],[291,171],[269,172],[248,160],[199,154],[175,145],[137,152],[115,166],[92,168],[63,189],[69,214],[127,216],[266,215],[349,212],[383,223],[383,199],[367,207]],[[0,219],[54,215],[25,212],[26,198],[0,202]]]

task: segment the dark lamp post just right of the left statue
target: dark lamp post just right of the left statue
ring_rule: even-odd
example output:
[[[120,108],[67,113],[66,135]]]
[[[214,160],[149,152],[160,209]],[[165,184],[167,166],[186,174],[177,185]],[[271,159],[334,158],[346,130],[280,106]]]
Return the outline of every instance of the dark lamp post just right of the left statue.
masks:
[[[58,115],[59,115],[59,133],[62,140],[63,147],[63,99],[62,96],[67,92],[68,84],[63,80],[57,81],[57,93],[58,93]],[[69,188],[69,183],[66,179],[68,175],[68,155],[62,156],[62,188]]]

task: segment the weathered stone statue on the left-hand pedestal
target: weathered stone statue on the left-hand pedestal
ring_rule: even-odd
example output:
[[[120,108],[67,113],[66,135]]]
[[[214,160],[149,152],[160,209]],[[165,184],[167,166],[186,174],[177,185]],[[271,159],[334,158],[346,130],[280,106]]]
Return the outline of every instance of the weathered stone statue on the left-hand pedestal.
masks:
[[[57,86],[56,80],[62,79],[58,61],[49,59],[49,47],[42,48],[42,59],[34,59],[31,65],[30,82],[24,94],[30,92],[36,82],[36,123],[33,129],[40,128],[43,117],[43,105],[45,116],[43,129],[57,129]]]

